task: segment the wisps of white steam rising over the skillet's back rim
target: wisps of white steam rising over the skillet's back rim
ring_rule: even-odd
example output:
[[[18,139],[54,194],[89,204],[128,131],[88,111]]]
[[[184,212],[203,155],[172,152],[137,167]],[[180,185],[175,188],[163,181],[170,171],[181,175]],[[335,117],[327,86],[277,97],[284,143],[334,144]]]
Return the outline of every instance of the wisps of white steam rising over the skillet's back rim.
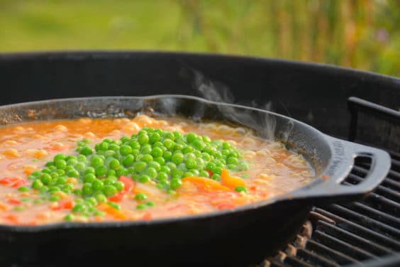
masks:
[[[191,72],[194,76],[194,89],[198,94],[200,94],[201,97],[204,99],[209,99],[213,102],[235,104],[235,99],[228,86],[223,85],[221,82],[209,80],[202,75],[201,72],[196,70],[191,69]],[[243,104],[243,102],[240,104]],[[259,109],[265,109],[267,111],[272,109],[272,102],[257,105],[255,101],[252,101],[245,105],[257,107]],[[262,138],[267,138],[270,140],[276,138],[277,121],[271,114],[224,105],[218,106],[218,110],[226,119],[228,119],[228,121],[233,121],[237,124],[242,124],[248,126],[249,128],[255,129],[255,131],[257,131]],[[285,130],[283,135],[280,134],[280,136],[284,138],[284,141],[287,140],[287,137],[293,128],[293,124],[287,126],[288,127],[285,128],[287,128],[288,131]]]

